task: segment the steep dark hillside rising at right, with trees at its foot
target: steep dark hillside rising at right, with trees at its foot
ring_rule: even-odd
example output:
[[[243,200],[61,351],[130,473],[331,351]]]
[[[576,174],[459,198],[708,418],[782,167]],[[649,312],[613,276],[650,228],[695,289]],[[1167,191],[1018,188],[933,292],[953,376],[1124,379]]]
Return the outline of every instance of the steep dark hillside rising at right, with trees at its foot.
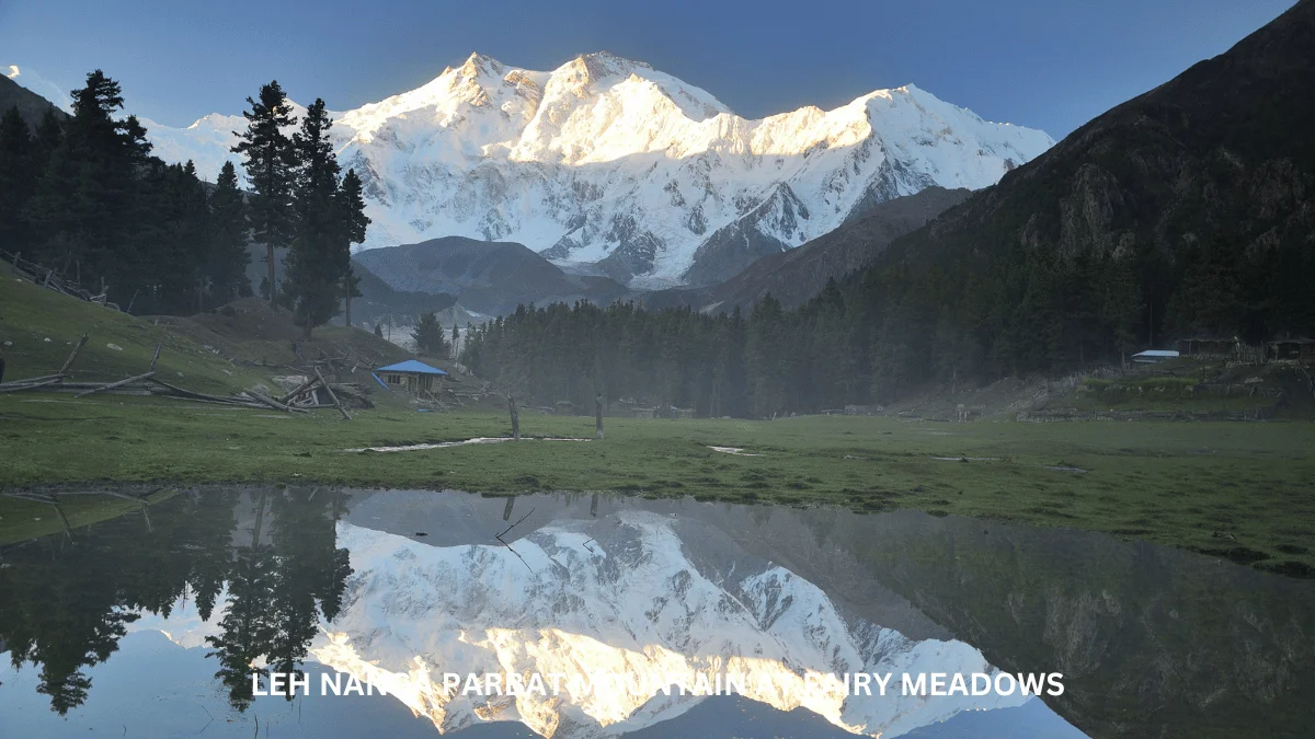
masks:
[[[1044,371],[1315,333],[1312,49],[1303,0],[897,241],[864,287],[885,343],[939,325],[957,370]]]

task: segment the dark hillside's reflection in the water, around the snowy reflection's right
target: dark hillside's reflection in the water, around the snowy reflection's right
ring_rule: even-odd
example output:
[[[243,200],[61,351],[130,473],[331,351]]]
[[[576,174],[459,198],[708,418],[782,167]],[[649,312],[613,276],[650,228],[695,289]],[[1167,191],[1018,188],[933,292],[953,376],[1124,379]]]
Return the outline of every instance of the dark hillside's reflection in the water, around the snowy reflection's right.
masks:
[[[517,517],[534,513],[515,531],[569,530],[590,512],[671,517],[684,555],[729,589],[742,571],[726,576],[727,558],[751,560],[748,552],[819,588],[847,623],[957,638],[1007,672],[1064,673],[1064,694],[1044,701],[1091,736],[1303,736],[1315,726],[1308,581],[1102,534],[957,517],[597,496],[588,504],[523,496]],[[487,543],[501,529],[492,523],[502,501],[473,496],[376,493],[352,508],[352,522],[427,529],[425,542],[438,531],[444,546]]]

